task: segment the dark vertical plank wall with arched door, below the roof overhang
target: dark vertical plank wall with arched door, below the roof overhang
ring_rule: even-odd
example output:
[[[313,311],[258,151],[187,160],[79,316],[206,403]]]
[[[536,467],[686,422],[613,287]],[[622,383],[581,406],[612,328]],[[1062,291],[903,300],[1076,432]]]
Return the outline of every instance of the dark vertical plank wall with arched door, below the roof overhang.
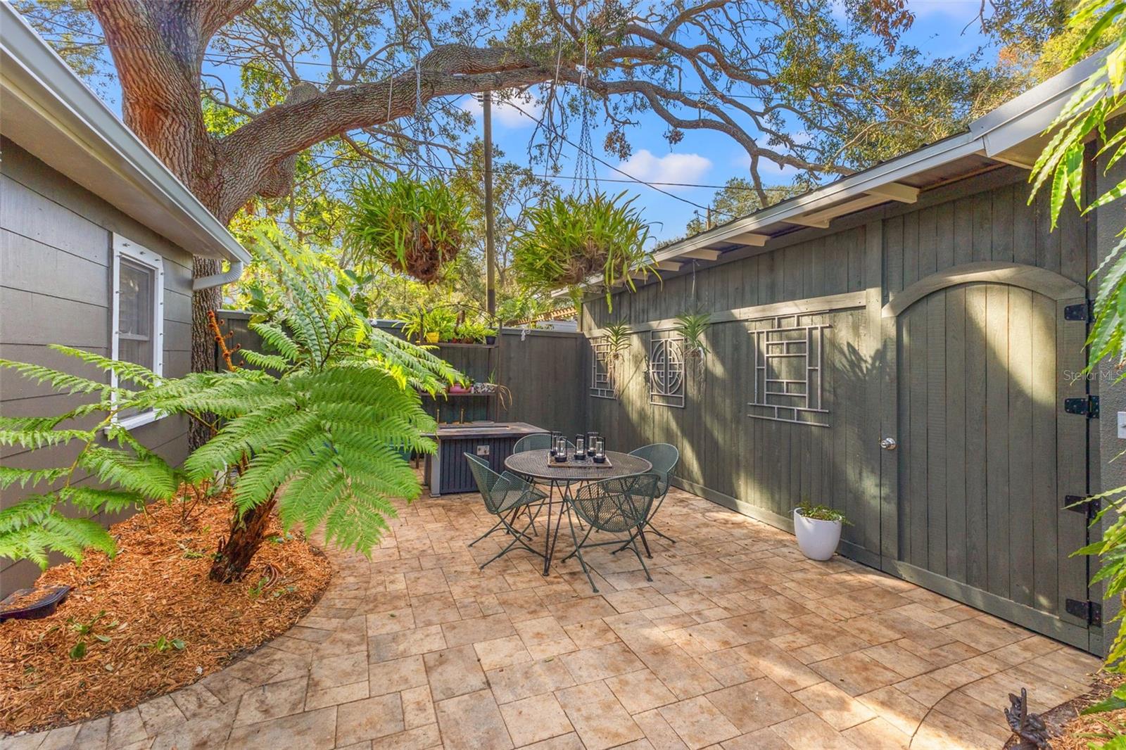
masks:
[[[1062,399],[1083,391],[1064,377],[1082,367],[1083,325],[1063,322],[1062,302],[993,282],[882,315],[891,295],[976,261],[1038,266],[1085,288],[1083,220],[1065,211],[1051,232],[1045,199],[1027,196],[1025,173],[1002,168],[618,292],[613,309],[591,297],[586,331],[725,316],[708,330],[708,373],[689,383],[685,409],[650,403],[649,334],[635,332],[618,400],[588,399],[591,427],[617,449],[672,443],[682,485],[787,529],[803,499],[838,508],[854,523],[846,554],[1085,646],[1064,614],[1065,598],[1085,598],[1084,568],[1067,559],[1083,525],[1061,510],[1063,494],[1085,491],[1087,426],[1062,414]],[[771,321],[745,309],[846,293],[863,305],[803,319],[830,325],[829,428],[748,418],[751,333]],[[882,436],[900,450],[881,450]]]

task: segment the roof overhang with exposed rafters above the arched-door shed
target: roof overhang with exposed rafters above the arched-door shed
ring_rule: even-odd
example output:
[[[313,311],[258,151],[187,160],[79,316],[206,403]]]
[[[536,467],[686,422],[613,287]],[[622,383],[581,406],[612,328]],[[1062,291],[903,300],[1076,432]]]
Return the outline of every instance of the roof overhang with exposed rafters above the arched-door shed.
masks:
[[[837,217],[874,206],[914,203],[920,190],[986,169],[1006,164],[1031,169],[1046,143],[1044,131],[1107,52],[1007,101],[962,133],[658,248],[653,252],[658,273],[677,273],[687,261],[720,261],[725,253],[748,247],[769,249],[771,240],[803,227],[828,229]],[[597,279],[592,277],[588,283],[593,286]],[[556,291],[554,296],[565,293]]]

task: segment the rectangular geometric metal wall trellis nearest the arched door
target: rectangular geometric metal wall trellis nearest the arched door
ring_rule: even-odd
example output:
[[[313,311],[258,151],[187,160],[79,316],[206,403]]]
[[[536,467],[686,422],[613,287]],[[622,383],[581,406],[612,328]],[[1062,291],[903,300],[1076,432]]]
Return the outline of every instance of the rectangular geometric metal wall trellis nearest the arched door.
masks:
[[[751,331],[754,391],[748,417],[829,427],[822,385],[824,330],[830,325],[803,323],[810,318],[778,315],[765,319],[770,328]]]

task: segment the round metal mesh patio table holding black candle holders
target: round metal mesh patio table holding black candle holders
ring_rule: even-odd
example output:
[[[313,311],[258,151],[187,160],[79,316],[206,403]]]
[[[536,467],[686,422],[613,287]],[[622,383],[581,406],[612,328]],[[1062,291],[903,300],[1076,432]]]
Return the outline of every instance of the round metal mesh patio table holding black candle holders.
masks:
[[[571,498],[571,485],[582,482],[598,482],[616,476],[628,476],[629,474],[641,474],[653,467],[641,456],[631,456],[628,453],[616,450],[606,452],[606,464],[596,464],[589,457],[586,461],[569,458],[566,463],[558,463],[552,458],[549,450],[525,450],[513,453],[504,459],[504,468],[513,474],[520,474],[534,480],[547,482],[551,491],[547,494],[547,520],[544,532],[544,575],[552,566],[552,557],[555,554],[555,541],[560,535],[560,526],[563,525],[563,510]],[[555,498],[558,490],[558,499]],[[552,506],[560,505],[558,518],[555,519],[555,534],[552,534]]]

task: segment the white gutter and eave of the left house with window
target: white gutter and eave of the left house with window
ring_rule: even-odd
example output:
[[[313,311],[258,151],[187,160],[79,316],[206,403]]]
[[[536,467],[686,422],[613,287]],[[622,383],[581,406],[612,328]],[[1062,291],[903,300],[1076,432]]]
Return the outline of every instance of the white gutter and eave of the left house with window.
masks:
[[[6,2],[0,134],[188,252],[250,253]]]

